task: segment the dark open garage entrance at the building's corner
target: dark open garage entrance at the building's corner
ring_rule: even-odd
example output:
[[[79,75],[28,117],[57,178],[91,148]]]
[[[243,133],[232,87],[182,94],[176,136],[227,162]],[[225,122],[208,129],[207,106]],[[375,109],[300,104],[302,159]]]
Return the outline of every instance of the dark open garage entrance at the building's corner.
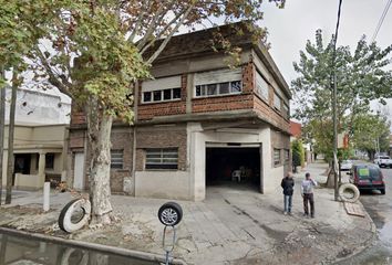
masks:
[[[206,186],[259,189],[260,147],[207,147]]]

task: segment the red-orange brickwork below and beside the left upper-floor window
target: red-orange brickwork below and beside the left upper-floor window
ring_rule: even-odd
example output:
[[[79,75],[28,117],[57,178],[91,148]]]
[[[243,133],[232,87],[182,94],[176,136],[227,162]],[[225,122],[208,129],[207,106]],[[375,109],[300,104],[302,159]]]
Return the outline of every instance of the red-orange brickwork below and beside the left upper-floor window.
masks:
[[[152,119],[157,116],[168,116],[168,115],[178,115],[186,113],[186,83],[187,75],[182,75],[182,91],[180,91],[180,100],[175,102],[163,102],[163,103],[142,103],[142,86],[140,86],[138,93],[138,109],[137,118],[140,120]]]

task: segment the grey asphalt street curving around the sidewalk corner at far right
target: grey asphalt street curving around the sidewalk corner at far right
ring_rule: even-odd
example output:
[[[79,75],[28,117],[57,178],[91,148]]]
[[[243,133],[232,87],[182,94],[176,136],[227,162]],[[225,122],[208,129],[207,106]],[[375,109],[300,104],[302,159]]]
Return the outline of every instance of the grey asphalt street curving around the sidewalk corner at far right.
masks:
[[[361,254],[340,264],[384,265],[392,264],[392,169],[382,169],[386,194],[379,191],[361,192],[360,201],[373,219],[378,241]]]

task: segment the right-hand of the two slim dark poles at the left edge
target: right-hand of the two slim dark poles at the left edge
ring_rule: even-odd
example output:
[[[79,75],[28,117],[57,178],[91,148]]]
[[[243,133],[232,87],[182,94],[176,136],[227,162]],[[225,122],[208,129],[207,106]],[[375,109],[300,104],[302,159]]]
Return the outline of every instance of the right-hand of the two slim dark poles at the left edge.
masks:
[[[14,171],[14,157],[13,157],[13,134],[16,123],[16,107],[17,107],[17,89],[18,89],[18,74],[16,70],[12,72],[12,92],[11,92],[11,106],[10,106],[10,123],[8,126],[8,167],[7,167],[7,190],[6,190],[6,204],[11,203],[12,193],[12,179]]]

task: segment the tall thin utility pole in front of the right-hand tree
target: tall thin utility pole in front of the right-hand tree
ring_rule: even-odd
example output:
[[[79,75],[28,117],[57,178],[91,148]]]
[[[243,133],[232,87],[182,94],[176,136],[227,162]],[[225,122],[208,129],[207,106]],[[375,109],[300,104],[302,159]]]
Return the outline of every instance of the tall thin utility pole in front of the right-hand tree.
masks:
[[[339,23],[340,23],[340,11],[341,11],[342,0],[339,0],[339,9],[338,9],[338,21],[337,28],[334,31],[334,40],[333,40],[333,53],[332,53],[332,109],[333,109],[333,186],[334,186],[334,200],[339,200],[339,187],[338,187],[338,120],[337,120],[337,99],[338,99],[338,89],[337,89],[337,71],[336,71],[336,56],[337,56],[337,42],[338,42],[338,32],[339,32]]]

